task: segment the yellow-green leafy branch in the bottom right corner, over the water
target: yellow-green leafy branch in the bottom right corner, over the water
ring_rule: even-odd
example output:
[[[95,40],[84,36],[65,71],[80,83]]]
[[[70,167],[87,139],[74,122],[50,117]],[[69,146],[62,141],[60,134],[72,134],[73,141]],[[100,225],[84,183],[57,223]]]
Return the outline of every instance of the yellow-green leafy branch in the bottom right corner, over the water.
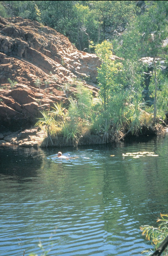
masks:
[[[168,214],[161,214],[161,219],[158,219],[157,222],[161,222],[158,227],[153,226],[141,226],[140,230],[142,231],[142,236],[145,236],[147,240],[152,240],[152,244],[154,245],[154,250],[157,250],[159,245],[163,242],[163,240],[168,235]],[[151,255],[152,252],[149,253],[149,250],[143,251],[143,253],[148,252],[148,255]],[[168,248],[164,250],[163,255],[168,255]]]

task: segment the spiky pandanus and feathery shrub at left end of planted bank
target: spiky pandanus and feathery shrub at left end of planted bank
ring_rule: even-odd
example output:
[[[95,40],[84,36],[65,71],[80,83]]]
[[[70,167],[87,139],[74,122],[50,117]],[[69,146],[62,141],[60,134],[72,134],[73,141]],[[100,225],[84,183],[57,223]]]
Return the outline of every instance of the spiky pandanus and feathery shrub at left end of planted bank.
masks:
[[[76,145],[78,139],[89,127],[88,119],[92,107],[92,95],[89,89],[81,82],[77,82],[76,98],[69,98],[69,108],[65,109],[63,103],[54,103],[51,111],[40,111],[42,118],[38,118],[35,126],[45,126],[47,130],[47,142],[52,143],[51,136],[57,133],[64,136],[66,143]]]

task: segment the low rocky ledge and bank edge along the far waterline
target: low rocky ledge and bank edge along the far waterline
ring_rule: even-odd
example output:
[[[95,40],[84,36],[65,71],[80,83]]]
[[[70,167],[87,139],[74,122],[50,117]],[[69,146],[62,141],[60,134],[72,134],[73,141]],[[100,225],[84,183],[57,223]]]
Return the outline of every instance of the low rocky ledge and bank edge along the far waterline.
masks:
[[[142,129],[140,136],[158,135],[164,132],[168,132],[168,127],[163,127],[162,125],[157,125],[155,127],[149,127]],[[126,135],[133,137],[130,134]],[[118,136],[113,136],[110,138],[109,142],[103,140],[101,135],[91,135],[87,134],[79,139],[77,142],[68,141],[63,137],[52,138],[53,145],[48,144],[48,147],[65,147],[65,146],[80,146],[80,145],[95,145],[95,144],[105,144],[105,143],[116,143],[124,141],[124,134],[118,134]],[[28,147],[28,148],[44,148],[46,147],[47,132],[41,128],[31,128],[24,131],[3,131],[0,133],[0,147],[2,146],[16,146],[16,147]]]

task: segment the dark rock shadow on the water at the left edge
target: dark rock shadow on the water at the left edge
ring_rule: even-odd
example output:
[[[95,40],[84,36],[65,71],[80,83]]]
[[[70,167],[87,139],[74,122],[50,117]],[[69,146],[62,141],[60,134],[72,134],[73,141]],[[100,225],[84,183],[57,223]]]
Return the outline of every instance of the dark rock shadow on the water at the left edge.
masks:
[[[43,159],[43,151],[34,148],[0,147],[0,175],[35,177]]]

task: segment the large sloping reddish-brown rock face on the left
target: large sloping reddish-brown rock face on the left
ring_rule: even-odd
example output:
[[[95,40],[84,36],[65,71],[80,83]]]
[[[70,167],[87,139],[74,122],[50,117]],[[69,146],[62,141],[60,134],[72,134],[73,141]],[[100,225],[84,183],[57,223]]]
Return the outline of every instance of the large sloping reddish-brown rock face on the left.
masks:
[[[54,29],[19,17],[0,17],[0,125],[11,127],[14,118],[19,126],[22,119],[26,126],[33,125],[39,110],[48,110],[54,102],[67,103],[67,95],[59,90],[64,83],[74,95],[74,78],[82,79],[96,97],[100,64],[95,54],[78,51]],[[88,77],[89,82],[84,81]]]

